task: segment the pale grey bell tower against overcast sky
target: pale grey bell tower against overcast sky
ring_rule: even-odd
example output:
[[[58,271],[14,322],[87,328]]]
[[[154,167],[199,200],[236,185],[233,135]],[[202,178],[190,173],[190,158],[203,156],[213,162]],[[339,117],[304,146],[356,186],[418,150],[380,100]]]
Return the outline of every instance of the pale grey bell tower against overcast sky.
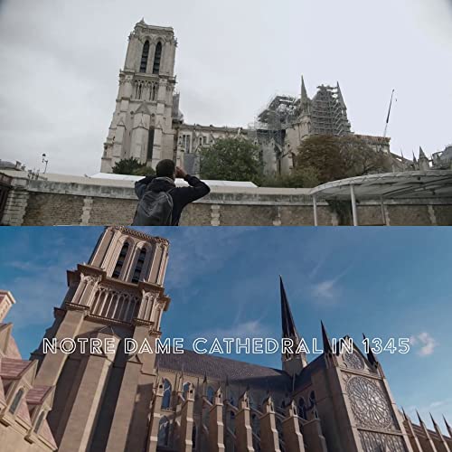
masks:
[[[101,172],[111,173],[114,165],[126,158],[153,168],[161,159],[173,158],[176,46],[171,27],[141,20],[130,33]]]

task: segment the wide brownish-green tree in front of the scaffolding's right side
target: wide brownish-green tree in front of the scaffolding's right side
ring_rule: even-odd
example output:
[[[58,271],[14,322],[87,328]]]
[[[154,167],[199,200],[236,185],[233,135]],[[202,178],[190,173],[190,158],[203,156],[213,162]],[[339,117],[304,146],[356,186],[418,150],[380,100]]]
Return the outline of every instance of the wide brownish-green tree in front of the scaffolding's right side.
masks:
[[[319,184],[391,171],[391,157],[353,135],[307,137],[298,147],[294,164],[296,170],[315,169]]]

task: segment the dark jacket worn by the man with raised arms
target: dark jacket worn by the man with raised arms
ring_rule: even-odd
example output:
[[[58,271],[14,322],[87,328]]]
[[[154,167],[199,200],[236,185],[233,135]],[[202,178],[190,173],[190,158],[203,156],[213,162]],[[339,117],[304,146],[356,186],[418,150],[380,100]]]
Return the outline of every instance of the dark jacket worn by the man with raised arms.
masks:
[[[208,185],[204,184],[194,175],[187,174],[184,180],[188,182],[189,187],[176,187],[169,177],[148,175],[135,183],[135,193],[137,193],[138,199],[141,199],[147,190],[151,190],[152,192],[168,192],[173,198],[171,224],[172,226],[177,226],[184,207],[211,191]]]

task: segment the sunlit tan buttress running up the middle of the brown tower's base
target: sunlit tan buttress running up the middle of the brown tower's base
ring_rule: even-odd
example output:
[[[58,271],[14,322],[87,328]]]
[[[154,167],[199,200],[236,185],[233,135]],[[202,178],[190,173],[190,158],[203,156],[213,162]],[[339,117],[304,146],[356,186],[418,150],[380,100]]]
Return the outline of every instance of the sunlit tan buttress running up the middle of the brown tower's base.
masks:
[[[115,360],[119,338],[112,334],[99,333],[100,340],[111,338],[114,353],[93,353],[83,358],[83,376],[81,377],[78,396],[71,407],[71,414],[61,438],[61,452],[83,452],[89,448],[93,428],[99,415],[104,392],[107,388],[108,372]]]

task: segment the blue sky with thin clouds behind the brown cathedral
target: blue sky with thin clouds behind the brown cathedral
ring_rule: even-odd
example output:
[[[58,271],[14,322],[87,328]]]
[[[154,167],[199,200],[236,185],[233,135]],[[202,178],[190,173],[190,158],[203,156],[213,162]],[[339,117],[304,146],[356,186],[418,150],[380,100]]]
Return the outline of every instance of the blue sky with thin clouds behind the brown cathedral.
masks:
[[[0,287],[17,304],[7,321],[24,357],[52,325],[66,269],[89,259],[102,228],[0,229]],[[153,228],[170,240],[165,337],[279,337],[278,275],[306,341],[330,336],[415,338],[407,355],[383,353],[391,391],[452,420],[452,231],[448,228]],[[241,355],[279,367],[279,355]],[[314,359],[314,357],[312,357]]]

